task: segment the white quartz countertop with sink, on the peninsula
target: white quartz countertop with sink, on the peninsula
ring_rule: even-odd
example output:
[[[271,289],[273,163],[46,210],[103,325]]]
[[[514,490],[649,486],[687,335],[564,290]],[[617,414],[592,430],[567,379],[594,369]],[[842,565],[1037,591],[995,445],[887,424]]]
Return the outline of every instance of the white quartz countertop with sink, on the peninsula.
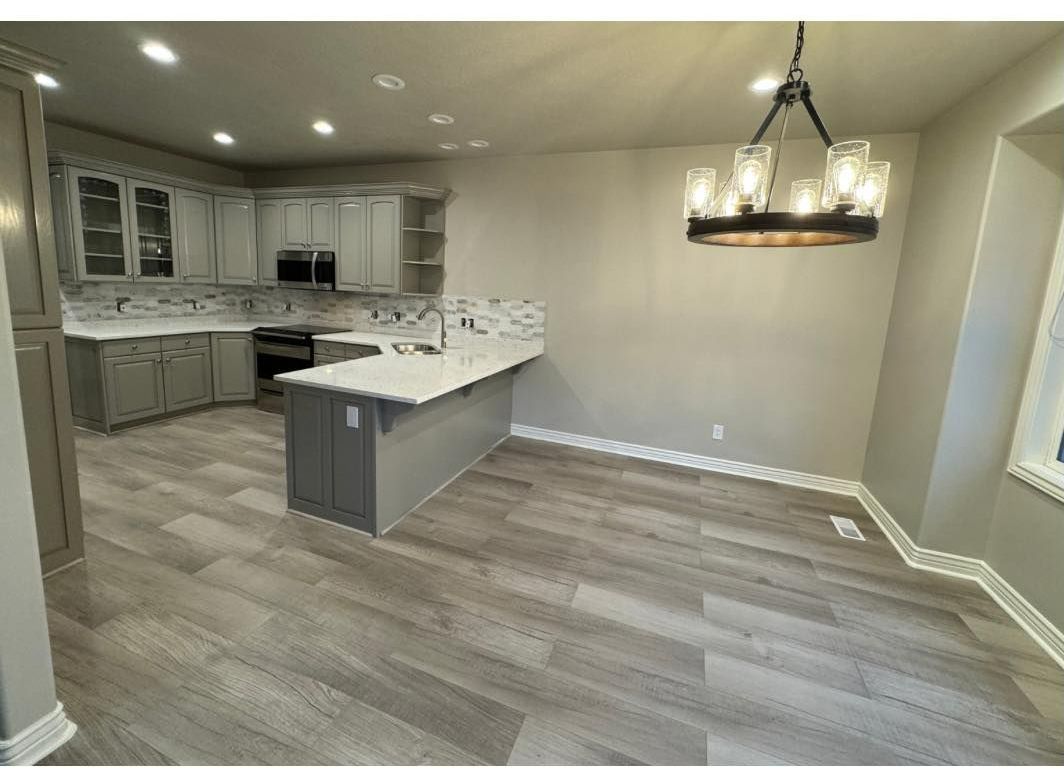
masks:
[[[398,331],[397,331],[398,332]],[[458,336],[455,336],[458,337]],[[402,355],[392,343],[425,340],[425,334],[330,333],[315,340],[378,346],[380,356],[277,375],[282,383],[418,405],[482,381],[543,354],[543,341],[448,340],[443,354]],[[435,345],[436,338],[430,339]]]

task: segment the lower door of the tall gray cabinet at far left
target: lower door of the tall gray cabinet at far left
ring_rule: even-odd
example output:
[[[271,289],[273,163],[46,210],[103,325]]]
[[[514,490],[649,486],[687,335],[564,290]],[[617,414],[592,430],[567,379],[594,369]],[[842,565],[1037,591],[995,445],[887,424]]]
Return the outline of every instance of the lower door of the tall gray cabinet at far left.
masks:
[[[15,360],[40,567],[48,572],[83,554],[63,331],[16,332]]]

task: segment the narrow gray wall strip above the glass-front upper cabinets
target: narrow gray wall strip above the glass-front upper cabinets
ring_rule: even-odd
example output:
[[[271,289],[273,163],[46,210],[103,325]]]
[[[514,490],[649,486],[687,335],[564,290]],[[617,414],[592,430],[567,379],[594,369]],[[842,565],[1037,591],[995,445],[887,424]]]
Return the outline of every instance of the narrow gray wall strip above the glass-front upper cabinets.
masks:
[[[101,134],[82,131],[62,123],[45,121],[45,138],[49,150],[66,150],[72,153],[95,155],[107,161],[143,166],[165,171],[178,177],[187,177],[219,185],[243,185],[244,173],[236,169],[209,164],[205,161],[188,158],[184,155],[167,153],[164,150],[147,148],[143,145],[105,137]]]

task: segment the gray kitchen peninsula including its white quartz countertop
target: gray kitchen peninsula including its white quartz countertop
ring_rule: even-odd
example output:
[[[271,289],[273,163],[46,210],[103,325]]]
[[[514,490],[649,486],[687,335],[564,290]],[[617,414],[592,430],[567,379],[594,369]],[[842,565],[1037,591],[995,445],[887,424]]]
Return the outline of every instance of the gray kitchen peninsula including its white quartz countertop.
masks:
[[[420,355],[371,333],[314,340],[316,350],[377,346],[381,356],[277,376],[288,508],[373,536],[510,434],[514,373],[543,353],[542,341],[469,340]]]

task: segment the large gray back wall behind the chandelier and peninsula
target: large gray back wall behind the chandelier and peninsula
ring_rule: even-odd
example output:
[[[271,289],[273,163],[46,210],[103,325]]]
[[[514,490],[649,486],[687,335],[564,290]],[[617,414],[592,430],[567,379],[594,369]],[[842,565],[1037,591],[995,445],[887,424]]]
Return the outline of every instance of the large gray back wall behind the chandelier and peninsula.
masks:
[[[547,301],[547,355],[517,379],[517,423],[855,480],[916,152],[911,134],[871,141],[894,164],[891,200],[880,238],[857,247],[687,244],[686,169],[727,172],[735,145],[252,172],[248,183],[452,188],[448,295]],[[818,141],[788,144],[779,195],[824,162]]]

